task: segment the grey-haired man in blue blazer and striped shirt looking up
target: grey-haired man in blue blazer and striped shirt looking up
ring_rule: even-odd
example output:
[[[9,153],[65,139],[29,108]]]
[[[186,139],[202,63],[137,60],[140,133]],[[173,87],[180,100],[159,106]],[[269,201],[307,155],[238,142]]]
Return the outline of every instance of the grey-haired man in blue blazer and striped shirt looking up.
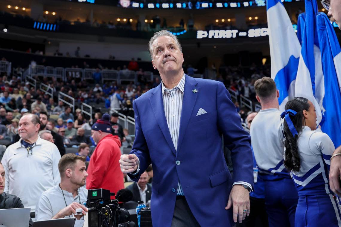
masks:
[[[223,83],[184,74],[178,38],[168,31],[149,41],[162,83],[133,102],[135,141],[122,155],[123,173],[138,181],[153,167],[154,226],[232,226],[250,212],[250,136]],[[231,150],[233,178],[223,153]],[[232,208],[232,209],[231,209]]]

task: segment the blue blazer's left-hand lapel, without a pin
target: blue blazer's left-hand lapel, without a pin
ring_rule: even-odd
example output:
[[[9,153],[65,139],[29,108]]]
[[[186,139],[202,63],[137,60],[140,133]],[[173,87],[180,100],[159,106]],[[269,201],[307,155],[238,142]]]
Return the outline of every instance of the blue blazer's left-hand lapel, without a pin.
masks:
[[[169,128],[168,128],[167,120],[165,116],[165,110],[163,108],[161,84],[157,87],[157,89],[155,90],[155,93],[151,97],[149,97],[149,102],[153,110],[155,119],[158,122],[159,127],[163,133],[163,136],[165,137],[170,149],[173,151],[175,155],[176,152],[175,152],[174,143],[169,133]]]

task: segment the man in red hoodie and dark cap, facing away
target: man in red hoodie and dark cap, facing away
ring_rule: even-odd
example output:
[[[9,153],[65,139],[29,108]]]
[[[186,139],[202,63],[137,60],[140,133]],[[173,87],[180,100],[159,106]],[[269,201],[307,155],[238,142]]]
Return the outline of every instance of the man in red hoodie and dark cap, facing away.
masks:
[[[123,173],[118,162],[121,141],[117,135],[111,134],[109,121],[109,114],[103,114],[102,119],[91,127],[91,136],[97,147],[90,158],[86,188],[103,188],[117,194],[118,190],[124,189]]]

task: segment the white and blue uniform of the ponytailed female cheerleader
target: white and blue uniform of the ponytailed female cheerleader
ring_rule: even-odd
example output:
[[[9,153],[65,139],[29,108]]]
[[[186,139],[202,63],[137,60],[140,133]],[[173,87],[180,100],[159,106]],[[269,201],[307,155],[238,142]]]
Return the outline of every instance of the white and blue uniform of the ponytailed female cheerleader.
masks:
[[[335,147],[323,132],[305,126],[298,136],[300,170],[291,172],[298,191],[295,227],[341,227],[340,209],[329,187],[330,157]]]

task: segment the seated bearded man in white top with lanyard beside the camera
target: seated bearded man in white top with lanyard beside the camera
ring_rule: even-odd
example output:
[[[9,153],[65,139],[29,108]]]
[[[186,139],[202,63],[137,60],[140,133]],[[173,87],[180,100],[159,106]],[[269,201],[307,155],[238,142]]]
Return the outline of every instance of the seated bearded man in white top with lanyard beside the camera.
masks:
[[[36,220],[72,217],[76,208],[88,209],[83,206],[87,201],[88,190],[85,185],[88,173],[85,171],[86,157],[73,153],[64,155],[59,163],[60,184],[45,191],[35,209]]]

